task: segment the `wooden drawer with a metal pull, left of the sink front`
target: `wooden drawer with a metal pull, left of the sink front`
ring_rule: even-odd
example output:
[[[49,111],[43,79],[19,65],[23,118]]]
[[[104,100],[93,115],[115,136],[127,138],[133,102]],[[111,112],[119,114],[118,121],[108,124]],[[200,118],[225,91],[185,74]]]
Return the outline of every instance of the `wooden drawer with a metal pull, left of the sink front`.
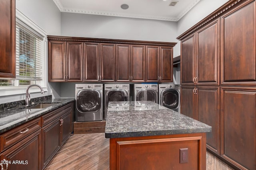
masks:
[[[0,136],[0,152],[28,137],[41,128],[41,117],[15,127]]]

